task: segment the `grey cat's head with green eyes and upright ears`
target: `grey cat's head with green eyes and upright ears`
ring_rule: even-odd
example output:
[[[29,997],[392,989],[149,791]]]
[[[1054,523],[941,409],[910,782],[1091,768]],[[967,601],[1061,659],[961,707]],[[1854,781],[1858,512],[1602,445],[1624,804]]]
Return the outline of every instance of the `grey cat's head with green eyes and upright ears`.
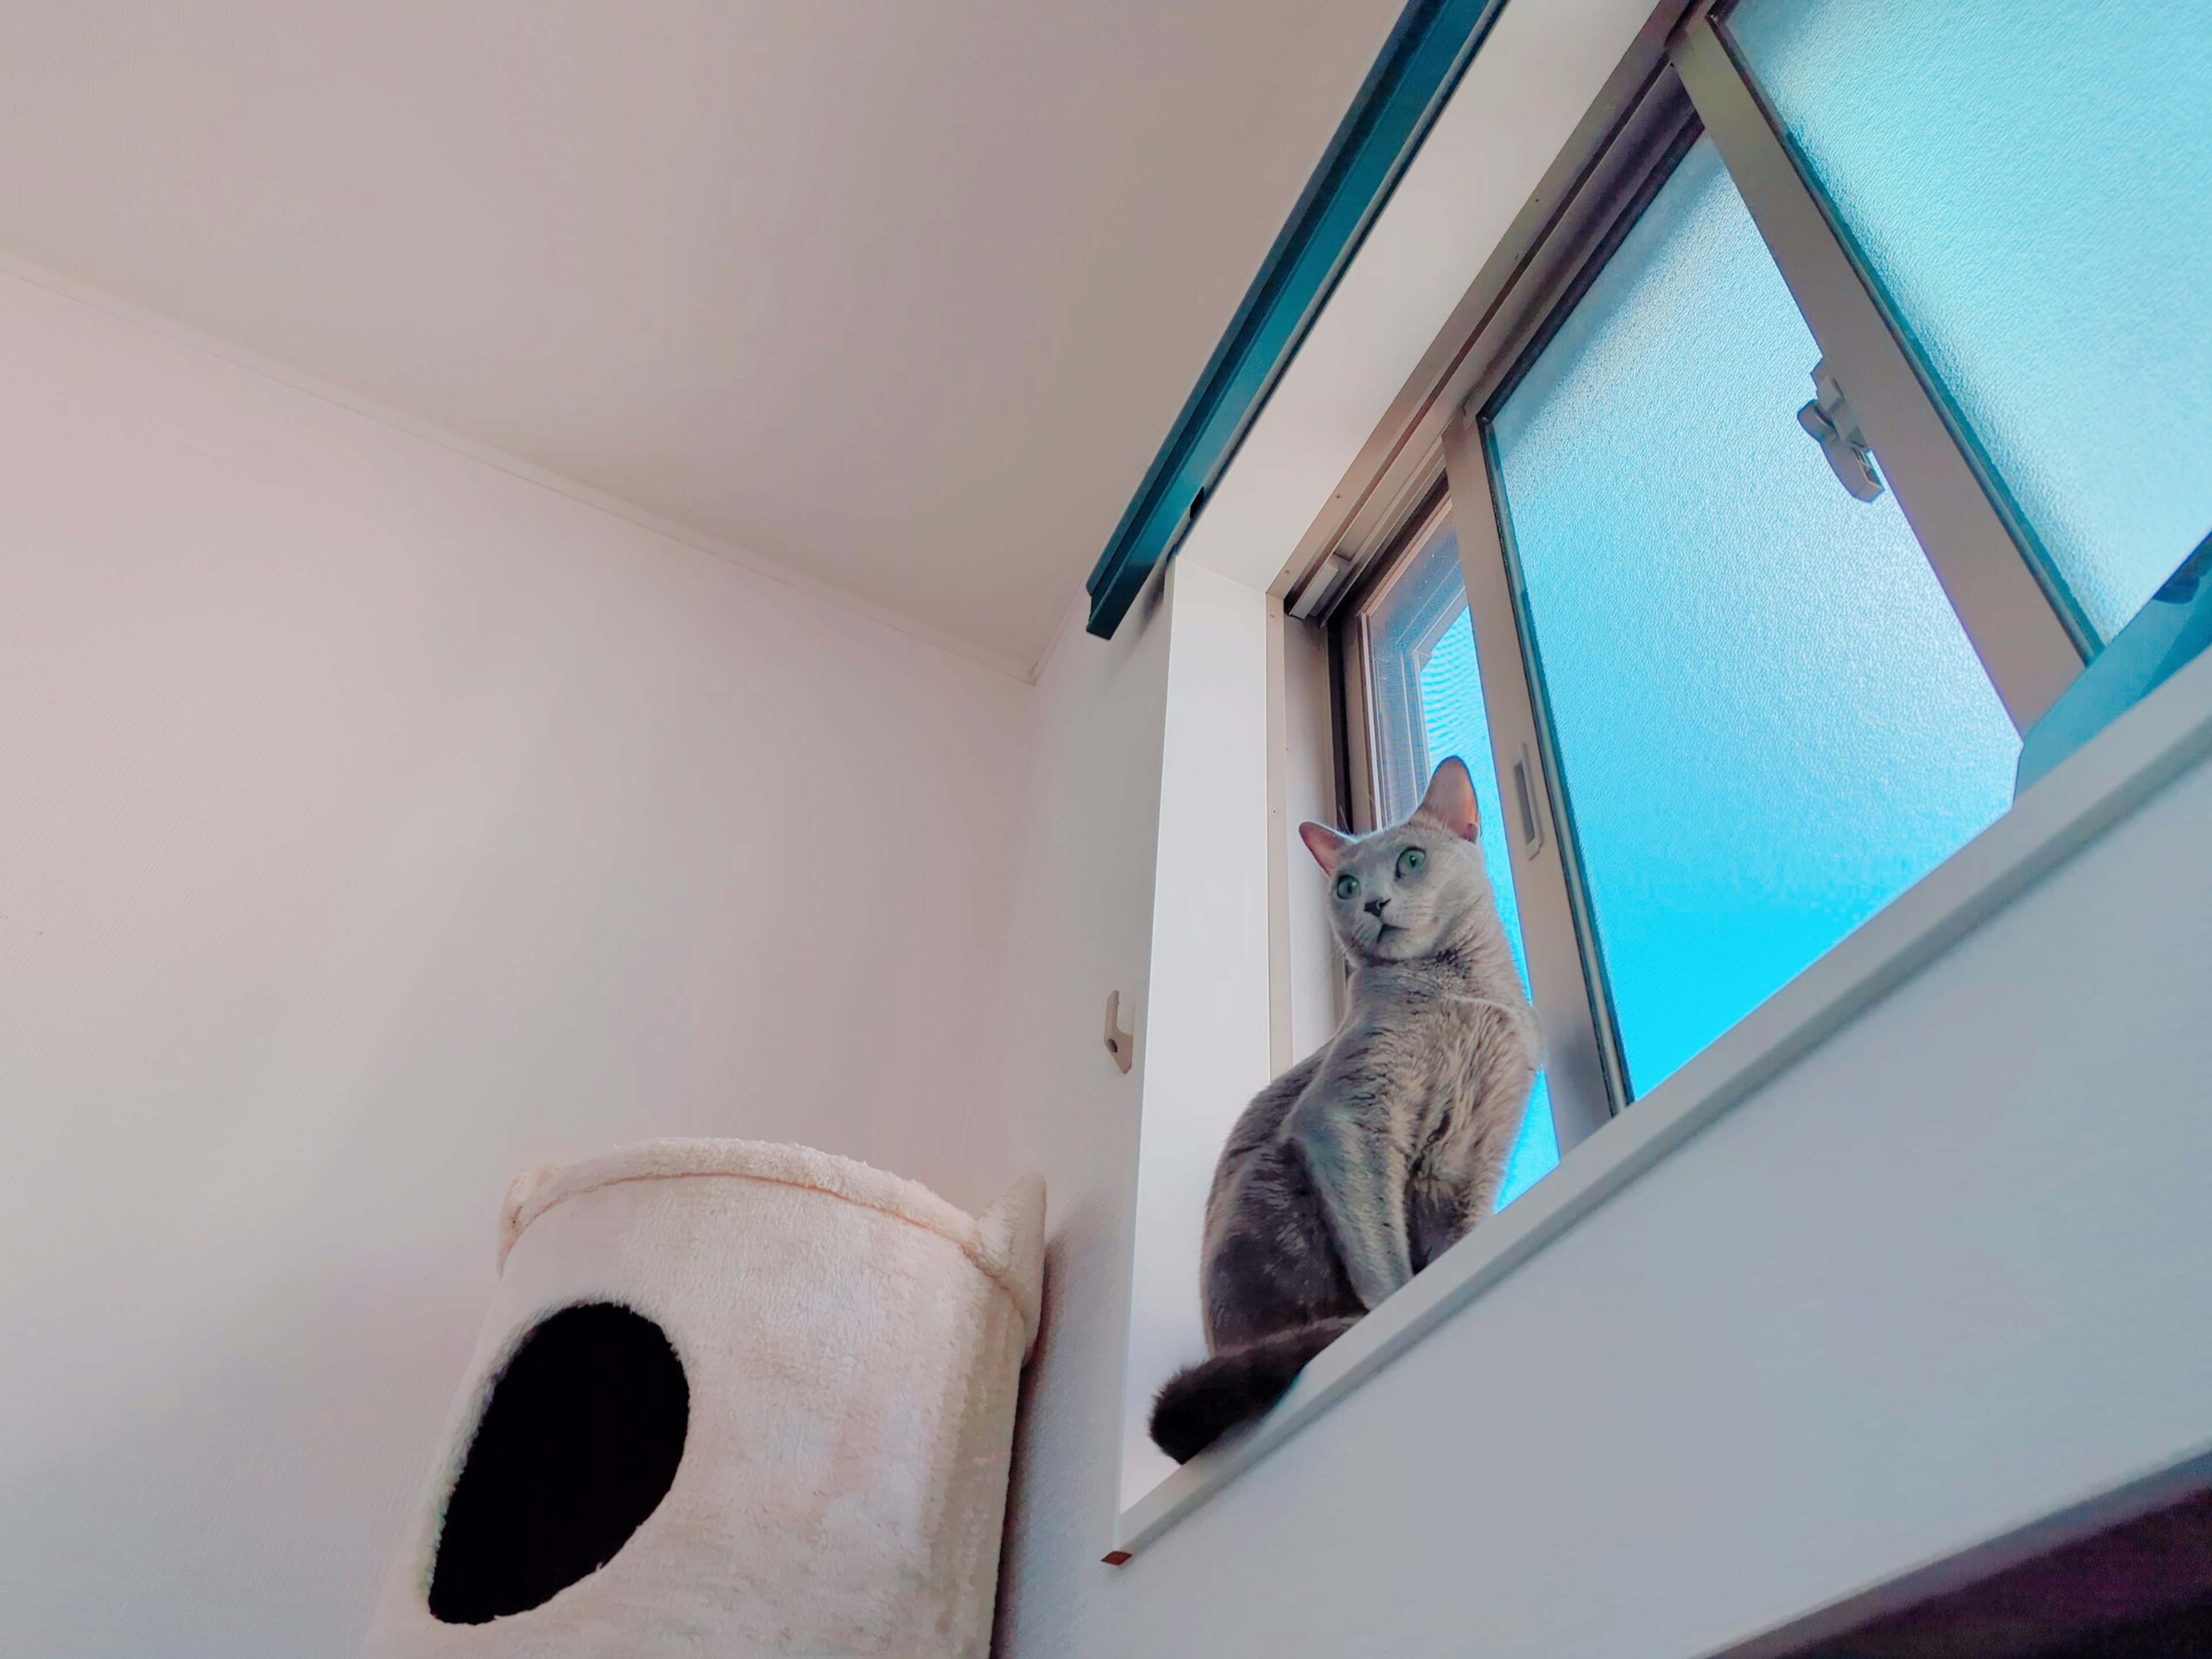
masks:
[[[1436,768],[1405,823],[1356,841],[1318,823],[1298,834],[1329,878],[1329,925],[1354,960],[1436,956],[1493,905],[1475,785],[1458,757]]]

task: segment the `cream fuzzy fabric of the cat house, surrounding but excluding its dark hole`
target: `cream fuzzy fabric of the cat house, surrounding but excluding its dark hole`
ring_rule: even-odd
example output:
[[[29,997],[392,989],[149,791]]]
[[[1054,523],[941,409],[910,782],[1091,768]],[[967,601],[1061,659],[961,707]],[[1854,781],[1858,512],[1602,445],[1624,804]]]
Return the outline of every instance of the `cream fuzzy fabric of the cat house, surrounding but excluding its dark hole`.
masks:
[[[646,1141],[520,1177],[500,1263],[369,1659],[987,1655],[1037,1332],[1037,1177],[969,1217],[803,1146]],[[675,1484],[551,1601],[440,1624],[438,1526],[491,1383],[538,1318],[586,1301],[646,1314],[684,1360]]]

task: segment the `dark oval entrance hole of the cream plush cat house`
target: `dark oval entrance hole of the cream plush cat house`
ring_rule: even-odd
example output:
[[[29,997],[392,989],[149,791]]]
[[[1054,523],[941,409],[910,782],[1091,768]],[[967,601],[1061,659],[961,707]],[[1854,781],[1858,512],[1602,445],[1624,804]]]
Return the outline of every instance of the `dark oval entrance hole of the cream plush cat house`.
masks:
[[[487,1624],[591,1577],[677,1478],[690,1385],[668,1336],[615,1303],[542,1318],[491,1385],[429,1579],[445,1624]]]

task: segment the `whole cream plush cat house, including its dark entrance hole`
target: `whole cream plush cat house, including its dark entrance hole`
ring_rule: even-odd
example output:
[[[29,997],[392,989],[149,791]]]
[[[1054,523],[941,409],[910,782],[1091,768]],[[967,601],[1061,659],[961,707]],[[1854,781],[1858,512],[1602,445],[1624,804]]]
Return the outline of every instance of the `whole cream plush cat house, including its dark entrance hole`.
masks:
[[[1042,1234],[801,1146],[531,1170],[365,1655],[982,1659]]]

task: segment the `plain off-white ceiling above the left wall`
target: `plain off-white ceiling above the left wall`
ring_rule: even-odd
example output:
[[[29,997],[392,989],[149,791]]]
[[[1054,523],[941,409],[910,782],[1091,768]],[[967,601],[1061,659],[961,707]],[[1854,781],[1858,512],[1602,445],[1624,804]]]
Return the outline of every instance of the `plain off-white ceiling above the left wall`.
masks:
[[[0,0],[0,250],[1031,664],[1398,0]]]

